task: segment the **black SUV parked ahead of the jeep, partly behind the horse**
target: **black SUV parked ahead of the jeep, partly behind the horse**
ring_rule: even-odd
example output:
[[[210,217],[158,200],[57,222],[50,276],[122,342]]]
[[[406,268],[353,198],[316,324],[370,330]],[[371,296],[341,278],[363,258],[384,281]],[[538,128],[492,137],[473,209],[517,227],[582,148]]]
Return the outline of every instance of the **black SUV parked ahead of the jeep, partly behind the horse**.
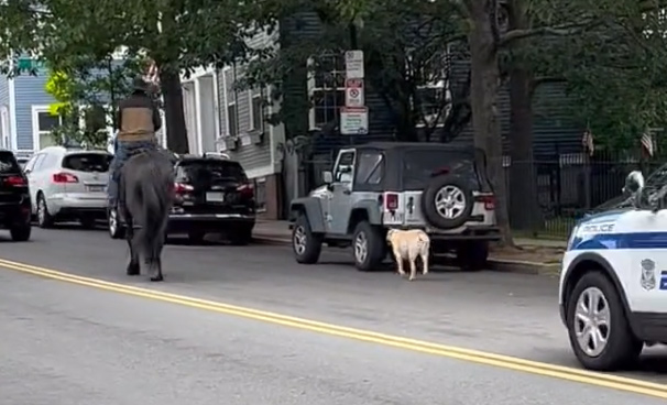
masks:
[[[187,233],[199,243],[207,233],[226,234],[234,244],[252,240],[255,223],[254,188],[243,167],[225,155],[179,155],[174,166],[175,200],[167,234]],[[124,225],[110,209],[109,234],[122,238]]]

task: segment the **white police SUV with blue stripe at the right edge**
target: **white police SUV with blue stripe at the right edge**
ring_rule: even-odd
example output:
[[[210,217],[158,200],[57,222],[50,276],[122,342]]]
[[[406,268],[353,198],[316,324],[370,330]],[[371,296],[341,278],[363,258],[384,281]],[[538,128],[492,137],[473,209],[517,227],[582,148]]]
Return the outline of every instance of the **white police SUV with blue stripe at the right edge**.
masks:
[[[625,204],[583,218],[560,274],[560,316],[581,364],[613,371],[644,346],[667,343],[667,209],[661,190],[632,172]]]

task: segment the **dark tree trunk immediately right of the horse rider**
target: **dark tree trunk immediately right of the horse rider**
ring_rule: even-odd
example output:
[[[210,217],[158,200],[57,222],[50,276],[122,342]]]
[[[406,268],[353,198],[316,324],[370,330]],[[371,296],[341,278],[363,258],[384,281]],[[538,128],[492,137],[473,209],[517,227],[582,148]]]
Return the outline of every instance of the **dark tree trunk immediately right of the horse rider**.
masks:
[[[171,70],[160,72],[160,83],[164,96],[167,147],[175,153],[189,153],[181,76]]]

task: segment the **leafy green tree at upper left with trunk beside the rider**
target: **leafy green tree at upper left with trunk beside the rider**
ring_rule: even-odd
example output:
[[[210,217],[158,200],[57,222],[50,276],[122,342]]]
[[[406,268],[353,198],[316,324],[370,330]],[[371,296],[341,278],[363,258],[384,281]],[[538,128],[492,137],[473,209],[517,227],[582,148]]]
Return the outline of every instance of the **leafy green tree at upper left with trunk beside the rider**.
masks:
[[[0,6],[0,26],[8,31],[0,54],[39,50],[57,65],[73,55],[101,62],[124,46],[150,57],[160,69],[167,143],[186,153],[181,74],[244,52],[241,10],[231,0],[8,0]]]

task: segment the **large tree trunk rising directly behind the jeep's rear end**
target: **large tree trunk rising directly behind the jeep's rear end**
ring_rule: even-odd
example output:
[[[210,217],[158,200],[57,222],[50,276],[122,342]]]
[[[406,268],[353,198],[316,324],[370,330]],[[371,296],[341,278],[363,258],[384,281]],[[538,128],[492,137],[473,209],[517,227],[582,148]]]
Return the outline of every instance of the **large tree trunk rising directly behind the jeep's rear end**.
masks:
[[[497,66],[494,0],[468,1],[472,20],[469,34],[471,69],[471,109],[474,145],[484,150],[488,175],[495,193],[495,215],[502,244],[514,245],[507,216],[507,186],[503,168],[503,142],[497,111],[500,70]]]

